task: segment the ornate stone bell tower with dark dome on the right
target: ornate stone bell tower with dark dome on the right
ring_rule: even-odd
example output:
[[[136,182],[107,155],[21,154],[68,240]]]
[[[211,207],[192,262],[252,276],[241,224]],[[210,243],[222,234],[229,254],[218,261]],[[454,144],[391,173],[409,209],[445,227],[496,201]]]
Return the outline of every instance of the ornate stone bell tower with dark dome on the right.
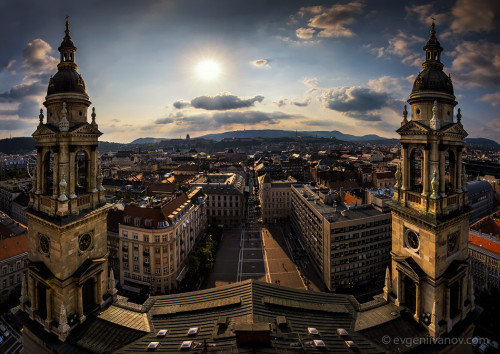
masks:
[[[409,310],[432,337],[450,332],[474,308],[468,265],[469,203],[461,123],[432,23],[401,135],[392,202],[392,269],[386,299]]]

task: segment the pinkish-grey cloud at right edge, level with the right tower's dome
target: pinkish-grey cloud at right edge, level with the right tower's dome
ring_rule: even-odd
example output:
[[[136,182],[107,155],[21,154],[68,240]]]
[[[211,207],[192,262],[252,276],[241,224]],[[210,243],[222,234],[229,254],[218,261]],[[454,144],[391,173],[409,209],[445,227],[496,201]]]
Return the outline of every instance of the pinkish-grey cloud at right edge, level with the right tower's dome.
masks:
[[[473,86],[500,85],[500,44],[484,40],[462,42],[452,52],[452,78]]]

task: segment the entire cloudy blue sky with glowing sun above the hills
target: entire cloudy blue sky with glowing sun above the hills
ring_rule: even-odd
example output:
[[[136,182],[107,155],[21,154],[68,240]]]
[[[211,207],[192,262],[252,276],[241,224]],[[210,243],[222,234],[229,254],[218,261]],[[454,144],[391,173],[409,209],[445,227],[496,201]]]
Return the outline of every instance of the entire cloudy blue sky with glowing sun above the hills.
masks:
[[[498,0],[2,1],[0,138],[35,131],[66,16],[103,141],[243,129],[398,138],[432,16],[455,115],[469,137],[500,142]]]

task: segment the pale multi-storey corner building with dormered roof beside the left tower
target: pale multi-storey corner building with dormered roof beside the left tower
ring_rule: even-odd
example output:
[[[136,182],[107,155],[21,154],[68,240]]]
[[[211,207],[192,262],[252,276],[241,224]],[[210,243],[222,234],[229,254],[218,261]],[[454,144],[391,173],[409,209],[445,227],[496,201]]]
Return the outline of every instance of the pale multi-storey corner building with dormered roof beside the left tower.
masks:
[[[119,224],[120,284],[134,292],[175,291],[184,260],[206,230],[201,187],[157,205],[127,205]]]

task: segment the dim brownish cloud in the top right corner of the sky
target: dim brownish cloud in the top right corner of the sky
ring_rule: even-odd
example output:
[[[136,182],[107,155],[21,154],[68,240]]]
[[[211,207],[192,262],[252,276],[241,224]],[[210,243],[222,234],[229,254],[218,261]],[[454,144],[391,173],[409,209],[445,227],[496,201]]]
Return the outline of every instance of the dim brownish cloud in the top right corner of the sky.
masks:
[[[450,29],[458,34],[489,32],[500,27],[500,2],[498,0],[458,0],[452,8]]]

